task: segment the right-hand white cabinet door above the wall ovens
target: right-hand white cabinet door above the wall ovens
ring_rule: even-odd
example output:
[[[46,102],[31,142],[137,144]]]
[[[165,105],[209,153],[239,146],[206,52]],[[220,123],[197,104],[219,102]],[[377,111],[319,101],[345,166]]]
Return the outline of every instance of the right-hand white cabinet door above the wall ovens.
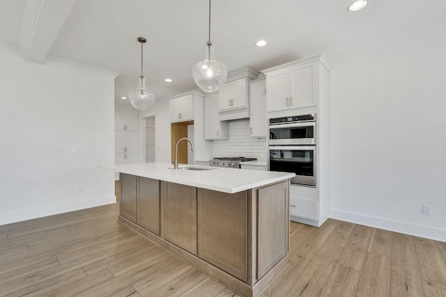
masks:
[[[290,68],[291,108],[317,105],[317,62]]]

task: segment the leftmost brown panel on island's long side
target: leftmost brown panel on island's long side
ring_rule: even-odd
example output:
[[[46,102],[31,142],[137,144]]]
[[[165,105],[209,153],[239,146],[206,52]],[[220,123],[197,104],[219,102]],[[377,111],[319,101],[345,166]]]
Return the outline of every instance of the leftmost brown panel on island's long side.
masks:
[[[137,223],[137,177],[121,173],[120,179],[119,214],[134,223]]]

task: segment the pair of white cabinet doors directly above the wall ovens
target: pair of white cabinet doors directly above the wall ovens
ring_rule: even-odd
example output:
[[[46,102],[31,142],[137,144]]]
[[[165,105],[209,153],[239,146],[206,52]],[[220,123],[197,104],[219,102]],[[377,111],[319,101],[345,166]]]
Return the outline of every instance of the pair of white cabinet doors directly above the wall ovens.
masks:
[[[304,63],[267,72],[267,108],[284,111],[318,104],[318,63]]]

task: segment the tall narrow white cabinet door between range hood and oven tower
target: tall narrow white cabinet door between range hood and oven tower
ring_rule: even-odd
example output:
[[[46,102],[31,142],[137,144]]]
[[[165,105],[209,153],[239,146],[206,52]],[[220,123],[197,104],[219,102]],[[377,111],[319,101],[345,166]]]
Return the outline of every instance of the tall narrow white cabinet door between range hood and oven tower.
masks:
[[[266,137],[268,121],[266,115],[266,85],[258,83],[249,86],[249,126],[251,137]]]

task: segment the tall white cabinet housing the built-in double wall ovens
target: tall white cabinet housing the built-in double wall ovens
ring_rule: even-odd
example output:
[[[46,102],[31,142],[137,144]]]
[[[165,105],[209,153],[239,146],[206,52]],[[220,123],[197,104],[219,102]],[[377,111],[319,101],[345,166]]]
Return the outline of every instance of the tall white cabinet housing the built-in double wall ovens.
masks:
[[[268,118],[316,113],[316,187],[290,187],[291,220],[315,226],[330,213],[330,70],[323,55],[263,70]]]

